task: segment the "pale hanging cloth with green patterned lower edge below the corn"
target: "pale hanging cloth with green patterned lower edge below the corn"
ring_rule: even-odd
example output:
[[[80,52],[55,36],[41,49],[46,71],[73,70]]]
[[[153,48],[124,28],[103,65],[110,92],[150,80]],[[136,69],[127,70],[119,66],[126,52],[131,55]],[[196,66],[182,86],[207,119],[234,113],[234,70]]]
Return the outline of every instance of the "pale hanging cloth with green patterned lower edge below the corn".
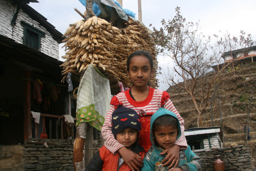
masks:
[[[98,130],[110,109],[111,90],[109,80],[96,68],[89,65],[77,92],[76,126],[88,122]]]

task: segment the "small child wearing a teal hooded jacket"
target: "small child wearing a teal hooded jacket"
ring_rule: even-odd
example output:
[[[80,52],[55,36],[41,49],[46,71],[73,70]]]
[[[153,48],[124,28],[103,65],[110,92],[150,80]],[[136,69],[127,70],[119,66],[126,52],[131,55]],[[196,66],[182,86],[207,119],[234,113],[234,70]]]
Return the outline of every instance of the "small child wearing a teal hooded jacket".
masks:
[[[173,146],[181,135],[180,122],[177,116],[164,108],[160,108],[151,117],[150,122],[151,129],[151,142],[152,146],[144,157],[144,166],[142,171],[168,170],[167,166],[161,164],[165,158],[164,155],[160,155],[164,149]],[[170,170],[201,170],[202,160],[193,151],[191,151],[189,145],[187,149],[180,149],[180,158],[177,167]]]

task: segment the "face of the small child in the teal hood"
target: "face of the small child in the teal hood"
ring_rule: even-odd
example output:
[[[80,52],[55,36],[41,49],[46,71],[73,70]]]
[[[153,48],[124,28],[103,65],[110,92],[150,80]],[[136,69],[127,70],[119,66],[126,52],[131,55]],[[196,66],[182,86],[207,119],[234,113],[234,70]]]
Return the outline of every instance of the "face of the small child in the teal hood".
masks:
[[[177,128],[172,126],[156,126],[154,132],[154,138],[159,144],[159,147],[166,149],[172,147],[177,138]]]

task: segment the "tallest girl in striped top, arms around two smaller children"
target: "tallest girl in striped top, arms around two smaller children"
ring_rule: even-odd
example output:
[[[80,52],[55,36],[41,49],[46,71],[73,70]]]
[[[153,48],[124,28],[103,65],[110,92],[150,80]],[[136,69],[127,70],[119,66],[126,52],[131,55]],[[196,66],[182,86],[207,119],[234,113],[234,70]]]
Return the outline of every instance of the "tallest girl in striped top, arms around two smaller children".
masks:
[[[153,58],[150,53],[141,50],[128,57],[127,75],[131,79],[133,87],[125,92],[118,93],[111,99],[111,108],[105,116],[105,122],[101,130],[106,148],[113,154],[119,152],[124,162],[132,170],[138,170],[138,167],[142,166],[141,157],[120,144],[111,132],[112,113],[118,104],[131,108],[139,114],[141,120],[139,144],[144,147],[145,151],[152,145],[150,140],[151,116],[161,107],[176,114],[180,121],[182,134],[174,146],[165,149],[161,153],[161,155],[167,154],[162,163],[164,163],[164,166],[170,164],[168,169],[178,164],[180,147],[187,147],[184,136],[184,120],[176,110],[173,102],[170,101],[168,93],[148,86],[148,80],[153,75],[153,72]]]

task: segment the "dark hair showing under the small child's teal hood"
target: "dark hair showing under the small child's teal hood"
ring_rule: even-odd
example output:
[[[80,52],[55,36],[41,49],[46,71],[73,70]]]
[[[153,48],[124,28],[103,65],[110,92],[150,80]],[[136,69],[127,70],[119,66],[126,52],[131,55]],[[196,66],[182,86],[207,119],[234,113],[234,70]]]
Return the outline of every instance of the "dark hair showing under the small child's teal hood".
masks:
[[[172,117],[170,115],[163,115],[154,121],[153,126],[152,126],[152,131],[154,133],[157,126],[173,126],[173,125],[175,125],[175,127],[178,131],[179,127],[178,127],[177,119],[175,119],[174,117]]]

